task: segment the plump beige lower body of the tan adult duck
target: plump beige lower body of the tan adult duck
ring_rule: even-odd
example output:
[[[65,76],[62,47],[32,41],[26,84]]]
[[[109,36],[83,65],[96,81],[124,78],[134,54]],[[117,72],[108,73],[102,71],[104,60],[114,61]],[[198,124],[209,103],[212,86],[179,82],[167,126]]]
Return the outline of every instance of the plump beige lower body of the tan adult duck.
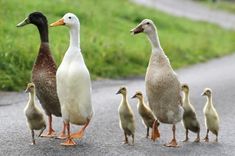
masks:
[[[148,67],[146,94],[154,115],[163,123],[176,123],[182,119],[183,108],[180,82],[169,67]]]

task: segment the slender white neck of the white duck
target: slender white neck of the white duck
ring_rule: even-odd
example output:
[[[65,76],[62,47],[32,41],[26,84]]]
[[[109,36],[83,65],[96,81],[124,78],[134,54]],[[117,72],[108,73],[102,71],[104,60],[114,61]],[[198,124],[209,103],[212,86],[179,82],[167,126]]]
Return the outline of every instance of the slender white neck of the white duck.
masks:
[[[70,27],[70,47],[78,47],[80,48],[80,30],[78,26]]]

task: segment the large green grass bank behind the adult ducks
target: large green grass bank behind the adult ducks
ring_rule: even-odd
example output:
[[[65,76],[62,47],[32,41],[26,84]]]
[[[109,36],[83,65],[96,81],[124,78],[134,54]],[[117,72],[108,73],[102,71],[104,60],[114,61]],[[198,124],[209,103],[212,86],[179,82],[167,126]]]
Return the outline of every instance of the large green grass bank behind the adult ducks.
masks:
[[[0,0],[0,89],[22,90],[30,81],[39,48],[39,34],[32,25],[16,28],[30,12],[41,11],[52,23],[65,13],[81,22],[81,48],[93,79],[145,74],[150,44],[145,35],[129,30],[142,19],[152,19],[163,49],[174,68],[223,56],[235,50],[235,32],[204,22],[144,8],[127,0]],[[69,44],[66,27],[50,28],[50,46],[60,64]]]

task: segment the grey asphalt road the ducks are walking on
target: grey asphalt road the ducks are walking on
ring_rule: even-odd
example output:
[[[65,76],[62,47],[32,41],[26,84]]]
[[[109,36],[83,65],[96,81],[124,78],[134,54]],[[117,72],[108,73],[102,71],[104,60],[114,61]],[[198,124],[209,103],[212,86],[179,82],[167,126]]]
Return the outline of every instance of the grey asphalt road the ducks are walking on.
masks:
[[[95,115],[87,128],[85,137],[76,140],[76,147],[63,147],[58,139],[36,138],[32,146],[31,134],[23,114],[28,95],[25,93],[0,92],[0,155],[235,155],[235,55],[208,63],[178,70],[181,82],[187,82],[201,124],[201,138],[206,130],[202,109],[206,99],[200,94],[204,87],[212,88],[215,107],[221,118],[219,143],[193,143],[196,137],[190,133],[190,142],[180,143],[180,148],[167,148],[163,144],[170,140],[171,126],[161,124],[161,138],[152,142],[145,138],[145,128],[136,111],[136,100],[130,99],[137,119],[134,146],[124,145],[123,132],[118,124],[118,105],[121,96],[115,95],[120,86],[128,87],[129,97],[136,90],[144,91],[144,79],[105,80],[93,82],[93,105]],[[60,131],[60,118],[55,118],[54,128]],[[72,126],[73,131],[80,127]],[[214,140],[214,136],[211,136]],[[178,140],[184,139],[181,123],[177,125]]]

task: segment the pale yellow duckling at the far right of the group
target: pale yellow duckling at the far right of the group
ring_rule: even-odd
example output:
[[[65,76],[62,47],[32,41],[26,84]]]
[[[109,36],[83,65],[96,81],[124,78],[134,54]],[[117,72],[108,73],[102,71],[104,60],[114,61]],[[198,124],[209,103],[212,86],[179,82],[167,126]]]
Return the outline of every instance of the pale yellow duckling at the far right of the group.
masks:
[[[215,142],[218,142],[218,134],[219,134],[219,115],[214,107],[212,102],[212,90],[210,88],[205,88],[202,96],[207,97],[207,102],[203,108],[203,113],[205,116],[205,126],[207,129],[206,136],[204,138],[205,142],[209,142],[209,131],[211,131],[215,136]]]

